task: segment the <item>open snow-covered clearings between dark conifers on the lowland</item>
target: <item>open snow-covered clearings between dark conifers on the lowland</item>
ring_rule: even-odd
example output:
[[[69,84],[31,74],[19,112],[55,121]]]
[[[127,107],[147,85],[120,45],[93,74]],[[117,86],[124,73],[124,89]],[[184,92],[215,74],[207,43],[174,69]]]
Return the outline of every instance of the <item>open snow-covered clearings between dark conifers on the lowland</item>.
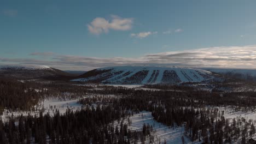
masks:
[[[88,95],[88,97],[116,97],[116,95]],[[65,113],[67,109],[71,110],[79,110],[82,107],[82,104],[78,104],[77,101],[79,99],[73,99],[73,100],[59,100],[59,99],[46,99],[42,101],[35,109],[37,111],[31,111],[31,115],[38,115],[39,111],[43,111],[43,113],[49,112],[50,115],[53,115],[56,110],[59,110],[60,113]],[[96,106],[96,104],[94,104]],[[252,119],[254,123],[256,123],[256,111],[250,111],[247,112],[241,111],[241,110],[235,110],[231,107],[211,107],[211,109],[219,109],[219,112],[222,113],[224,111],[224,117],[225,119],[232,119],[237,117],[244,117],[247,120]],[[11,115],[18,116],[18,115],[28,115],[28,111],[14,111],[10,112],[8,110],[5,110],[3,112],[4,114],[1,116],[3,121],[6,121],[8,117],[11,117]],[[153,133],[154,135],[154,141],[155,143],[159,143],[159,140],[161,143],[182,143],[182,136],[184,137],[185,143],[200,143],[198,141],[191,142],[186,136],[184,136],[184,127],[167,127],[165,124],[156,122],[155,119],[152,116],[151,112],[148,111],[142,111],[140,113],[134,114],[133,116],[129,117],[131,123],[129,124],[128,117],[123,118],[124,124],[126,123],[128,125],[128,128],[131,130],[137,130],[142,131],[144,124],[149,124],[153,126]],[[114,121],[115,125],[120,125],[118,121]],[[255,137],[254,137],[255,138]],[[146,143],[149,143],[149,139],[146,140]]]

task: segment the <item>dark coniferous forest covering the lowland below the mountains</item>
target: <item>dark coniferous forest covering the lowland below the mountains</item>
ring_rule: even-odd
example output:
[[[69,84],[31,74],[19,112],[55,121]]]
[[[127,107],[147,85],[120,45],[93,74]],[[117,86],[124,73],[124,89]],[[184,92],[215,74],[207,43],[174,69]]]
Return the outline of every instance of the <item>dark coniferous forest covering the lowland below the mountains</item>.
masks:
[[[255,136],[254,119],[225,118],[224,111],[217,108],[254,112],[255,92],[209,92],[185,85],[95,88],[63,81],[2,79],[0,93],[2,114],[6,109],[28,111],[8,120],[1,118],[0,143],[165,143],[156,139],[152,124],[132,130],[124,122],[141,111],[152,112],[154,121],[169,129],[184,128],[183,142],[185,137],[198,143],[247,143]],[[86,97],[90,94],[93,96]],[[82,106],[77,110],[68,107],[65,112],[54,109],[51,114],[37,110],[39,101],[50,98],[78,99]]]

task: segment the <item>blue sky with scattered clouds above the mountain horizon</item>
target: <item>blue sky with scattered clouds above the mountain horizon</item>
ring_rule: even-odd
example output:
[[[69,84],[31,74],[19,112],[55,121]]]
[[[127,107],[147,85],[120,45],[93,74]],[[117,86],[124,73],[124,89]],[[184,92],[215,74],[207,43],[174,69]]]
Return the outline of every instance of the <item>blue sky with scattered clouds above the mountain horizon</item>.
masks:
[[[256,69],[256,1],[0,1],[0,64]]]

